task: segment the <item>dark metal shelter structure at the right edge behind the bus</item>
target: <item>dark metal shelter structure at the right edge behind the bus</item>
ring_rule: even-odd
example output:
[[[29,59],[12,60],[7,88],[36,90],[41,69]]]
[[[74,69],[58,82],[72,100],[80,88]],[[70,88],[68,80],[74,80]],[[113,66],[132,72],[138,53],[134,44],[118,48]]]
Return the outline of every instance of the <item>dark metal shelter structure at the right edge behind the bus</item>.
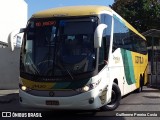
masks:
[[[160,88],[160,30],[151,29],[143,33],[147,38],[148,80],[151,87]]]

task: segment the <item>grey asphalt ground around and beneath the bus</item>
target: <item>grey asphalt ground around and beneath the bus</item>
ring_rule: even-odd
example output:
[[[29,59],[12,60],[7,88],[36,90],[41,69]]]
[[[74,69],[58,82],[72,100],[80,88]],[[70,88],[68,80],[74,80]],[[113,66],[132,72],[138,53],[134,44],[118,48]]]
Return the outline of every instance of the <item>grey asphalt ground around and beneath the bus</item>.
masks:
[[[130,93],[121,99],[120,106],[113,112],[109,111],[54,111],[20,106],[18,89],[0,90],[0,111],[51,111],[49,115],[58,115],[56,119],[66,120],[159,120],[160,119],[160,90],[144,87],[141,93]],[[64,114],[72,117],[64,117]],[[78,117],[77,117],[78,114]],[[75,117],[73,117],[76,115]],[[111,115],[117,117],[110,117]],[[135,115],[129,116],[129,115]],[[145,116],[146,115],[146,116]],[[153,116],[148,116],[153,115]],[[154,116],[155,115],[155,116]],[[157,117],[157,116],[158,117]],[[87,117],[86,117],[87,116]],[[1,118],[0,118],[1,120]]]

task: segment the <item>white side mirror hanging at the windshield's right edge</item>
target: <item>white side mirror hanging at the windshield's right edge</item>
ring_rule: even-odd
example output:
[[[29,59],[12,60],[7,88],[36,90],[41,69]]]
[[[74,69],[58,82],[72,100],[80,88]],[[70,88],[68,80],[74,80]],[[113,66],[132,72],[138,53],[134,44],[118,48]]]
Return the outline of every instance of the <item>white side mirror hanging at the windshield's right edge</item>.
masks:
[[[99,48],[101,47],[102,36],[104,29],[107,28],[106,24],[99,24],[94,32],[94,47]]]

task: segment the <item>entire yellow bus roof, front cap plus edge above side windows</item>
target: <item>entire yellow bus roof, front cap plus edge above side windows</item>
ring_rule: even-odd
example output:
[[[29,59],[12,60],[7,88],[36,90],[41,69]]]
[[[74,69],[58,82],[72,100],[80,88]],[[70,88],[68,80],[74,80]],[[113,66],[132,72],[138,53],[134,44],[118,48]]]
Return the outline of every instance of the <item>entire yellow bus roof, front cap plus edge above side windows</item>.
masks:
[[[113,16],[116,16],[120,21],[123,22],[130,30],[141,36],[143,39],[146,38],[141,35],[135,28],[133,28],[126,20],[124,20],[120,15],[113,11],[110,7],[107,6],[66,6],[52,8],[44,11],[37,12],[32,15],[32,18],[49,18],[49,17],[67,17],[67,16],[85,16],[85,15],[98,15],[102,12],[108,11]]]

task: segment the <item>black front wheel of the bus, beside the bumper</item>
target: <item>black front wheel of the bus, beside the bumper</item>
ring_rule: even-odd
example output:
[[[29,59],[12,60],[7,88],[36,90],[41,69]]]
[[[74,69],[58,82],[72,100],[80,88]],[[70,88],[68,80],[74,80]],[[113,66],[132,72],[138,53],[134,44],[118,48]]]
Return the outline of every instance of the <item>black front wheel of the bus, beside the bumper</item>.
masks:
[[[112,96],[111,96],[111,102],[108,103],[107,105],[102,106],[102,110],[115,110],[121,100],[121,91],[116,83],[113,83],[112,85]]]

